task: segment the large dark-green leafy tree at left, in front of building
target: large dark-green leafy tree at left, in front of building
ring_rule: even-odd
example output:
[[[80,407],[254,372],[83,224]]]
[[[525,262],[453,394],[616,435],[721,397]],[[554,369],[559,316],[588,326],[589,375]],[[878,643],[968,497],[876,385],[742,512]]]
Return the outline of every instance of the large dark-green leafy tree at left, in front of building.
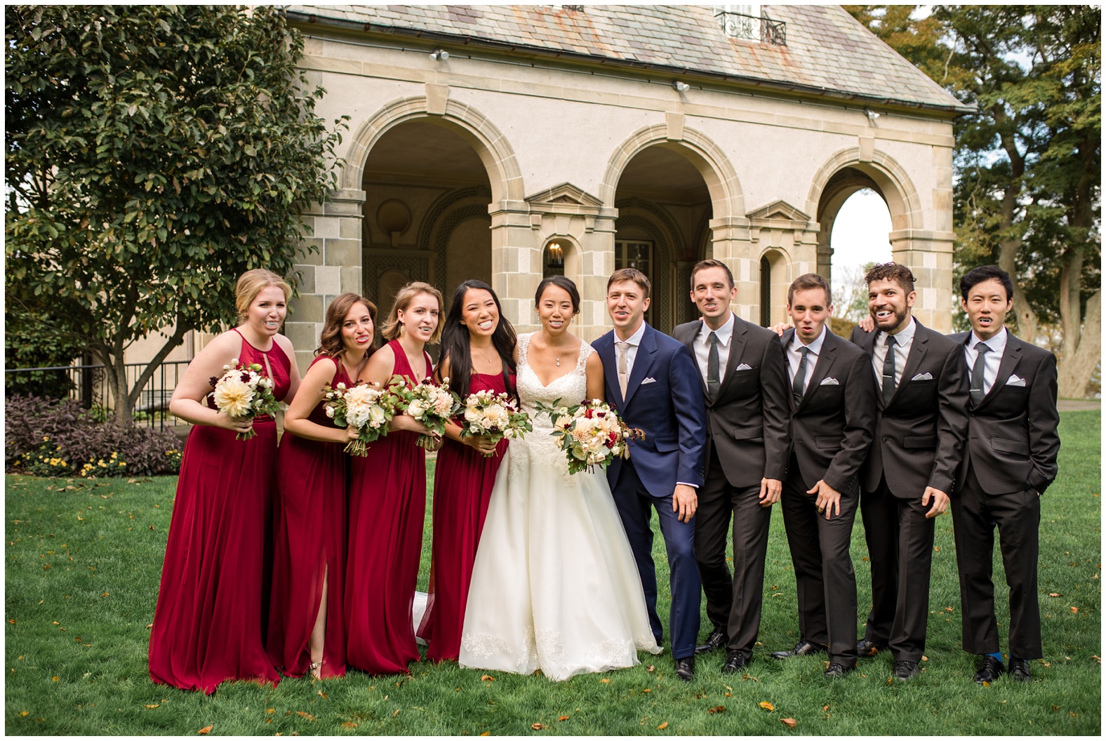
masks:
[[[116,420],[237,276],[292,270],[302,203],[336,185],[345,124],[273,8],[4,9],[6,288],[105,366]],[[168,341],[128,387],[124,352]]]

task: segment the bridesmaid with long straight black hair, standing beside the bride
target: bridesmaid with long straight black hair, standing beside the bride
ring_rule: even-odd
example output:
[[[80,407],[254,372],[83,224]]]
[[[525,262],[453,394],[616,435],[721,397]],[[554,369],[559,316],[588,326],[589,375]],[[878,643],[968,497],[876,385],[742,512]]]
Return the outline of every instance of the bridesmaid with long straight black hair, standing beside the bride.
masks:
[[[462,401],[484,389],[513,397],[514,342],[514,327],[502,316],[491,286],[465,281],[453,293],[442,327],[441,362],[435,377],[439,382],[449,378]],[[461,428],[452,422],[446,425],[446,437],[434,477],[430,595],[418,629],[430,645],[427,658],[431,661],[456,660],[460,651],[472,562],[495,471],[507,450],[507,440],[494,445],[480,435],[462,438]]]

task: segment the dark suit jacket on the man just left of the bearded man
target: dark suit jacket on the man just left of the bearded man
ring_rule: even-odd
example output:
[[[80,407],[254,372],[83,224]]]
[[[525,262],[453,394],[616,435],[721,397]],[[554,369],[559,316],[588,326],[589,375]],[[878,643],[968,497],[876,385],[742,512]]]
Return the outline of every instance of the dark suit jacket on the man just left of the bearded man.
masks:
[[[780,344],[785,358],[794,336],[794,330],[783,334]],[[848,492],[868,457],[876,426],[872,358],[826,327],[802,400],[795,406],[794,395],[787,398],[791,441],[803,483],[810,489],[822,479],[837,491]]]

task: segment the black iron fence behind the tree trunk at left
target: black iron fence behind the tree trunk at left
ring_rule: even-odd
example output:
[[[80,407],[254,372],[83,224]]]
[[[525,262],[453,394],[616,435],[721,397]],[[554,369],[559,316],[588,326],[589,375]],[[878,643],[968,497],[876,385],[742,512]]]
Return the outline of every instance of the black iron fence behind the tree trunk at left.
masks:
[[[188,361],[171,361],[154,370],[135,401],[133,417],[137,424],[159,428],[184,424],[169,414],[169,398],[187,367]],[[127,363],[124,368],[127,387],[131,388],[146,369],[146,364]],[[113,414],[111,410],[115,407],[114,395],[102,365],[4,368],[4,396],[12,394],[76,399],[82,407],[92,409],[104,419]]]

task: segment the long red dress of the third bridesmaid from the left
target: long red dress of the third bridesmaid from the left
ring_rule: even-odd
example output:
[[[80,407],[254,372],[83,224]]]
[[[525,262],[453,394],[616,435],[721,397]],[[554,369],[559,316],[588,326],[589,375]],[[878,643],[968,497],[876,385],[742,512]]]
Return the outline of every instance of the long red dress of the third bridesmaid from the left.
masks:
[[[414,386],[399,341],[393,375]],[[430,356],[422,352],[427,369]],[[422,552],[426,451],[417,432],[393,430],[349,463],[349,545],[346,559],[346,662],[369,674],[407,672],[418,660],[411,605]]]

